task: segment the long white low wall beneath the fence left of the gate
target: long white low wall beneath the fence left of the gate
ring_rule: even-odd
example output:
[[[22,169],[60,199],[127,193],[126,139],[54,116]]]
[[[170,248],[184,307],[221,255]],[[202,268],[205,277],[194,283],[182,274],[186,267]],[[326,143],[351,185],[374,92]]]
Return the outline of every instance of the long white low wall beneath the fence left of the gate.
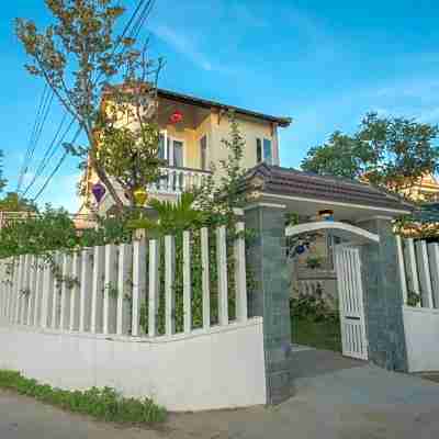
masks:
[[[267,402],[261,318],[149,340],[0,327],[0,369],[68,390],[111,386],[176,412]]]

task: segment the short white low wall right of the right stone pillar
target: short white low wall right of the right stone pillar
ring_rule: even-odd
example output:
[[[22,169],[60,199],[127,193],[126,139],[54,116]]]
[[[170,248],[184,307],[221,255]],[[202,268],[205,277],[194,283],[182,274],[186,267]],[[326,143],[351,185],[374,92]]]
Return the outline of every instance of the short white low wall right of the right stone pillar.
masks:
[[[403,307],[409,372],[439,371],[439,309]]]

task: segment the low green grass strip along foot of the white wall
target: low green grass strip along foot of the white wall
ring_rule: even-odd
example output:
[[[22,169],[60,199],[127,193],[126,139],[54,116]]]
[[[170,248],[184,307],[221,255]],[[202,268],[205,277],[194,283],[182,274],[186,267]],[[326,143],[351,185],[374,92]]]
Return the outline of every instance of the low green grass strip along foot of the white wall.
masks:
[[[65,391],[40,384],[35,380],[24,378],[20,372],[8,370],[0,370],[0,387],[32,396],[72,413],[89,415],[99,420],[157,424],[166,419],[166,409],[151,399],[126,398],[110,387],[92,387],[83,392]]]

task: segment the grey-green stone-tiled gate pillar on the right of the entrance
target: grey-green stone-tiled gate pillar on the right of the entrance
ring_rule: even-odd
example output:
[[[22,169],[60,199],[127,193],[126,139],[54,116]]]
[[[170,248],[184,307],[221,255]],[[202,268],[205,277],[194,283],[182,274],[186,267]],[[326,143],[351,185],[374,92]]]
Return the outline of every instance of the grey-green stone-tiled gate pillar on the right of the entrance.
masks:
[[[395,235],[391,219],[372,218],[363,227],[380,236],[380,244],[362,246],[361,264],[369,359],[389,370],[407,370],[403,296]]]

